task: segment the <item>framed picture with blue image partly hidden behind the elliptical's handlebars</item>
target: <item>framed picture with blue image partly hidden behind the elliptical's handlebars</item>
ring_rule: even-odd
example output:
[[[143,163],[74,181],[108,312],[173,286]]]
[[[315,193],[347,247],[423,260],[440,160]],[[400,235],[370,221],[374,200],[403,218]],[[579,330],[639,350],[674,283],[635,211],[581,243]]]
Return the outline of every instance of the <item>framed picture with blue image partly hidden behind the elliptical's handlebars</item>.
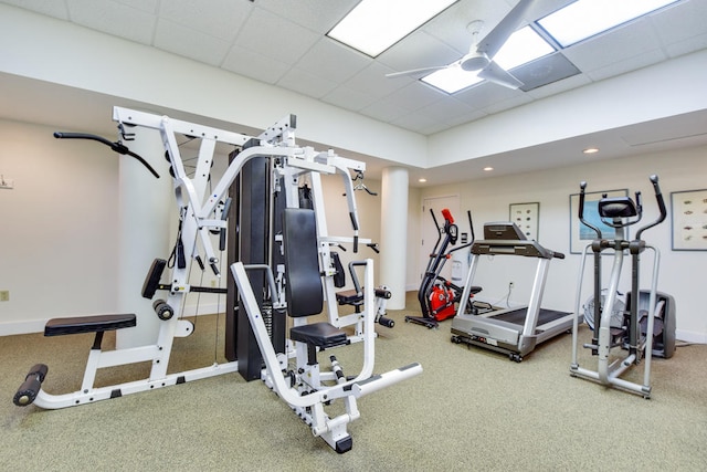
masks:
[[[599,228],[602,238],[612,239],[615,238],[616,230],[602,223],[598,211],[599,200],[604,195],[606,197],[625,197],[629,195],[629,190],[619,189],[584,193],[584,220]],[[597,233],[579,221],[579,193],[570,195],[570,252],[572,254],[581,254],[584,252],[584,247],[594,239],[597,239]]]

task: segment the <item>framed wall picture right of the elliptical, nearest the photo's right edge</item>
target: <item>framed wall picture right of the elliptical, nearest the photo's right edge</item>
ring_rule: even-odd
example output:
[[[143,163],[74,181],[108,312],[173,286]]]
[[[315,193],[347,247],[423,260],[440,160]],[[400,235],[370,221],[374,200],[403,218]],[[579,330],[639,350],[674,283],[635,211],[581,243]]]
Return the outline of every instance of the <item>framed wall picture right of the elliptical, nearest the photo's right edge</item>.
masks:
[[[707,189],[671,193],[674,251],[707,251]]]

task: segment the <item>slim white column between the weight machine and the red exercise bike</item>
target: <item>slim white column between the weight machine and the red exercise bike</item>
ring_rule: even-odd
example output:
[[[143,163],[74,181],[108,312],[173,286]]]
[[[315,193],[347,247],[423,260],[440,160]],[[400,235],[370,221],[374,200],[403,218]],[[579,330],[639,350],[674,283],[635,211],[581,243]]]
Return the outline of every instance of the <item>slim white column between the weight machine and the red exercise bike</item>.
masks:
[[[390,287],[390,310],[405,307],[408,255],[408,169],[383,169],[381,186],[380,283]]]

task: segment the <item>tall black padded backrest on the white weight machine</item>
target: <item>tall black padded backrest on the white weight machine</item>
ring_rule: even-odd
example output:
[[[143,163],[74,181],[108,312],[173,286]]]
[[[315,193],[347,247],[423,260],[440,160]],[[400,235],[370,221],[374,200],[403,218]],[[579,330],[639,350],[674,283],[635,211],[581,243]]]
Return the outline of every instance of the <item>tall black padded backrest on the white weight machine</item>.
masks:
[[[286,208],[283,212],[285,296],[289,316],[321,313],[324,293],[319,274],[317,225],[314,210]]]

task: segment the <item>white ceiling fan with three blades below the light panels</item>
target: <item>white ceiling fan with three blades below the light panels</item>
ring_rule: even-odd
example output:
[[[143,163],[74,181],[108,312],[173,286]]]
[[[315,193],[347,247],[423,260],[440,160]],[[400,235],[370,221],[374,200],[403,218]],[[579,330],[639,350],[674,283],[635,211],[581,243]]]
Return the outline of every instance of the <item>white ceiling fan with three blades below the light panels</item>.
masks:
[[[483,21],[473,21],[466,28],[472,33],[472,46],[469,52],[452,64],[433,67],[413,69],[410,71],[394,72],[386,74],[387,77],[400,77],[410,75],[421,75],[423,73],[440,71],[449,67],[461,67],[464,71],[478,71],[477,75],[488,82],[493,82],[509,88],[518,88],[523,82],[505,71],[493,61],[498,50],[506,43],[508,38],[516,31],[528,8],[534,0],[520,0],[503,20],[486,36],[476,41],[476,38],[484,24]]]

